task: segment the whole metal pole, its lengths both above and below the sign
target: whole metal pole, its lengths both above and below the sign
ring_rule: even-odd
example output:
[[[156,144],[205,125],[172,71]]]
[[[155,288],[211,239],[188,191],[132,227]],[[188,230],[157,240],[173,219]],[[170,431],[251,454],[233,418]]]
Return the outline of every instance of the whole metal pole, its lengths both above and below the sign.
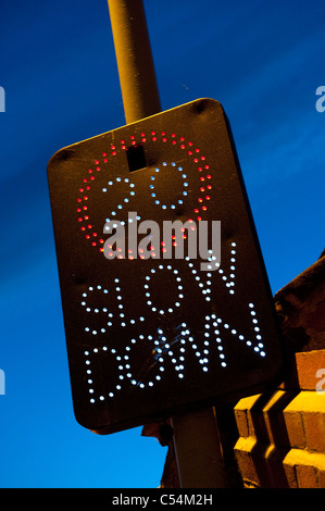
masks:
[[[161,111],[142,0],[108,0],[126,123]],[[224,488],[214,408],[171,419],[183,488]]]

